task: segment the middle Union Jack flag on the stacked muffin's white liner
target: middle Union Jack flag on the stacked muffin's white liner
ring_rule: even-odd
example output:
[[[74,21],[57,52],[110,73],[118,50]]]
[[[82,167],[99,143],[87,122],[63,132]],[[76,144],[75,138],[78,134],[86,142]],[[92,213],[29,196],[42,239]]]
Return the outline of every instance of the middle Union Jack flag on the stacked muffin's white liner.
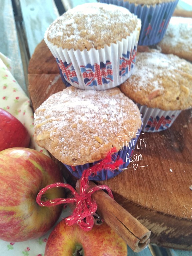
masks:
[[[112,64],[108,60],[106,63],[81,65],[80,69],[86,86],[98,86],[113,82]]]

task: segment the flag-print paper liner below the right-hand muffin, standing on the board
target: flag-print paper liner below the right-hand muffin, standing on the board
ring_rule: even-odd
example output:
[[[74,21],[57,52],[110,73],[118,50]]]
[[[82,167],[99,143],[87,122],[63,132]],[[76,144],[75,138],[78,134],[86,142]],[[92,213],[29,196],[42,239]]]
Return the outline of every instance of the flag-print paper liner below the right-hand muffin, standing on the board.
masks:
[[[144,132],[160,132],[171,127],[181,110],[164,111],[159,108],[148,108],[136,103],[143,118]]]

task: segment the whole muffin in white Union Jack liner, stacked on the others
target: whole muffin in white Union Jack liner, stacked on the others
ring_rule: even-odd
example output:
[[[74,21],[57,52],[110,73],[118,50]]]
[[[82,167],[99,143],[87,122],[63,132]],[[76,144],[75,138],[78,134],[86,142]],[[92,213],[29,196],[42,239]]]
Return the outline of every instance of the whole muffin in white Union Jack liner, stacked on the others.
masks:
[[[126,8],[87,3],[58,17],[44,40],[67,82],[103,90],[131,75],[140,29],[141,20]]]

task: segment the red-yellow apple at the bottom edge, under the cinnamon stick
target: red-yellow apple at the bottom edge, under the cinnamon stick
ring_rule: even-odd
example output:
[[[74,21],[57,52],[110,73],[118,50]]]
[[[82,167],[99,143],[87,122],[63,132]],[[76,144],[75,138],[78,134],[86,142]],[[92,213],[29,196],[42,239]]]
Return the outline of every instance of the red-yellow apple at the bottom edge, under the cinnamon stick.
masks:
[[[77,252],[79,254],[77,254]],[[106,223],[83,231],[60,221],[51,232],[45,256],[127,256],[127,244]]]

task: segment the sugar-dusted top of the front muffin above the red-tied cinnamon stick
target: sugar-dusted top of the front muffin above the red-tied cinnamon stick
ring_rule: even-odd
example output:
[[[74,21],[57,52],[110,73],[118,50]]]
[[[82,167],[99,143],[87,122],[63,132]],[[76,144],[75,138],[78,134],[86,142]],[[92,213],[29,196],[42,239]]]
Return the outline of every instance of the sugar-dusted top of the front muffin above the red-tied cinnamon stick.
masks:
[[[51,95],[34,117],[37,144],[73,166],[101,160],[112,147],[119,151],[122,138],[129,142],[129,133],[134,138],[141,127],[138,107],[119,88],[68,87]]]

